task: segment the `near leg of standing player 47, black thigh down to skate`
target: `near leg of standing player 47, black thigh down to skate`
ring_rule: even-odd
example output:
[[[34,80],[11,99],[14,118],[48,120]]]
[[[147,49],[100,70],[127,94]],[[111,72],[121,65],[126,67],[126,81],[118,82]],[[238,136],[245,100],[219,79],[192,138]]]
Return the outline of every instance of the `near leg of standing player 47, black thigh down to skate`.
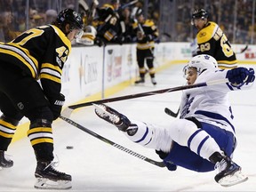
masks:
[[[45,99],[41,86],[31,78],[23,79],[23,84],[29,84],[24,91],[23,98],[26,110],[25,116],[30,121],[28,138],[36,155],[36,184],[35,188],[71,188],[71,175],[59,172],[54,168],[53,136],[52,136],[52,110],[49,101]],[[28,102],[26,102],[28,100]],[[52,185],[52,181],[55,182]]]

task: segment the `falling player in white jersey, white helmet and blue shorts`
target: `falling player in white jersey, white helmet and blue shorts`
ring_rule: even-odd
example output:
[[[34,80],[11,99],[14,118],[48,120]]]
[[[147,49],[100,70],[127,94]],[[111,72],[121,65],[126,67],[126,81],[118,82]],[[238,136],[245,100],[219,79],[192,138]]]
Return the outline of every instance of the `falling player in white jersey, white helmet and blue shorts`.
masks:
[[[116,125],[133,142],[156,149],[170,171],[177,166],[195,172],[217,170],[216,182],[228,187],[247,180],[232,161],[236,132],[228,92],[244,90],[254,82],[252,68],[220,69],[210,55],[188,62],[188,84],[213,80],[219,83],[183,92],[180,119],[165,127],[129,120],[107,105],[96,105],[97,116]]]

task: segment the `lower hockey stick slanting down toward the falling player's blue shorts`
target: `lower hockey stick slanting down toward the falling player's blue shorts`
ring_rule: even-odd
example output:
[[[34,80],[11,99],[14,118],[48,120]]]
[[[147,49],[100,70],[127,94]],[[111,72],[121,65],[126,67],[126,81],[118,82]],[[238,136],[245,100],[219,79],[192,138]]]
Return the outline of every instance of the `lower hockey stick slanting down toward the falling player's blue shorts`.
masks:
[[[108,140],[107,138],[100,136],[96,132],[92,132],[91,130],[87,129],[86,127],[82,126],[81,124],[76,124],[76,122],[72,121],[71,119],[69,119],[65,116],[60,116],[60,118],[64,121],[68,122],[68,124],[72,124],[73,126],[82,130],[83,132],[87,132],[88,134],[92,135],[93,137],[95,137],[99,140],[102,140],[103,142],[108,143],[109,145],[111,145],[115,148],[118,148],[118,149],[128,153],[131,156],[136,156],[136,157],[140,158],[141,160],[148,162],[149,164],[155,164],[156,166],[159,166],[159,167],[165,167],[164,162],[157,162],[153,159],[148,158],[147,156],[142,156],[142,155],[132,151],[129,148],[124,148],[123,146],[113,142],[112,140]]]

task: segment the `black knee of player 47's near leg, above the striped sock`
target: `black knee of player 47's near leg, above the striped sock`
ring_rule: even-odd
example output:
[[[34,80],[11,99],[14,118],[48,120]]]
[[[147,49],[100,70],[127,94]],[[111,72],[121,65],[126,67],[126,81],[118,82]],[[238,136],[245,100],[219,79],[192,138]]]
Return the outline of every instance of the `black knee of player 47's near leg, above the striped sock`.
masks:
[[[28,119],[30,122],[35,122],[37,119],[45,119],[52,124],[52,110],[47,106],[42,108],[35,108],[33,111],[28,112]]]

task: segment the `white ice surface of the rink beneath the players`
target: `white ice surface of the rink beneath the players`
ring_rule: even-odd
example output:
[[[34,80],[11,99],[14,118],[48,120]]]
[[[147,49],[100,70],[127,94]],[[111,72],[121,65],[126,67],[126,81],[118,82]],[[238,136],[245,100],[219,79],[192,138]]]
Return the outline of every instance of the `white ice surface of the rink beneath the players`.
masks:
[[[254,68],[250,65],[245,67]],[[181,64],[173,65],[156,73],[156,87],[147,78],[145,85],[131,85],[113,97],[180,86],[185,83],[182,68]],[[176,112],[180,104],[180,94],[181,92],[156,94],[111,102],[108,105],[130,118],[164,125],[174,119],[164,113],[164,108]],[[249,91],[230,92],[238,140],[234,161],[242,166],[244,174],[249,177],[249,180],[242,184],[229,188],[220,187],[213,179],[215,172],[192,172],[181,167],[175,172],[170,172],[166,168],[149,164],[114,148],[61,119],[53,123],[55,154],[60,161],[56,169],[72,175],[72,188],[69,191],[256,191],[255,95],[255,85]],[[77,109],[70,118],[108,140],[161,161],[153,149],[142,148],[132,143],[122,132],[117,131],[116,127],[101,120],[94,114],[93,107]],[[74,148],[67,149],[67,146]],[[11,155],[14,165],[10,169],[0,171],[0,191],[40,190],[34,188],[36,158],[28,138],[12,143],[7,154]]]

